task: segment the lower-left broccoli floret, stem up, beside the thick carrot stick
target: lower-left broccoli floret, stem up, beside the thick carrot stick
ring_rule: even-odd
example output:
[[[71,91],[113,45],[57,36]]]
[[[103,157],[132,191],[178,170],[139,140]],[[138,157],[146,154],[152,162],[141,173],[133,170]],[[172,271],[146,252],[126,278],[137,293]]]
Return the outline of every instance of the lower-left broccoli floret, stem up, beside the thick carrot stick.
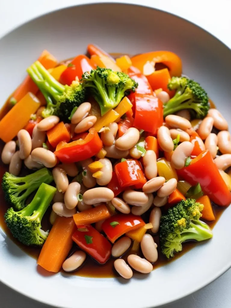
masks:
[[[15,212],[7,210],[4,218],[7,227],[15,238],[27,246],[41,246],[46,241],[48,232],[41,229],[41,220],[56,192],[56,188],[42,183],[34,199],[24,209]]]

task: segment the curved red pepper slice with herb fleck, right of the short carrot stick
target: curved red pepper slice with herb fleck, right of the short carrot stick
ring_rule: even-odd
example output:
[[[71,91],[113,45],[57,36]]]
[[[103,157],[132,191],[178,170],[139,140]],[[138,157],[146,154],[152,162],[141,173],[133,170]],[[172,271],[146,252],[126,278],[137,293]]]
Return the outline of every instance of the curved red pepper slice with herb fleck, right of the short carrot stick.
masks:
[[[117,214],[106,219],[102,229],[108,239],[114,243],[124,233],[143,227],[145,222],[140,216],[133,214]]]

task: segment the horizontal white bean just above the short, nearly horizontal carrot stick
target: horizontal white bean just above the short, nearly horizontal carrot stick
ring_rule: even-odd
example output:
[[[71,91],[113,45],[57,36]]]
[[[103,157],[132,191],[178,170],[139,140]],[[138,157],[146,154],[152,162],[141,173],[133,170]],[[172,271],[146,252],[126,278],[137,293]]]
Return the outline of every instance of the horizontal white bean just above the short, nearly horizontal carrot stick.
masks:
[[[83,202],[91,205],[99,202],[108,202],[113,198],[113,191],[106,187],[91,188],[83,194]]]

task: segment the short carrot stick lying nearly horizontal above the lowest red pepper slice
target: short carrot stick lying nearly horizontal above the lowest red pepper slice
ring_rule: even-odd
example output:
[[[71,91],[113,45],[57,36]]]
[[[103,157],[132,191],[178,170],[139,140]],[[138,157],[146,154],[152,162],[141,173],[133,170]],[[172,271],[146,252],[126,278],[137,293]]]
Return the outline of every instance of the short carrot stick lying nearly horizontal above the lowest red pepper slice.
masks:
[[[78,225],[88,225],[94,222],[106,219],[110,217],[110,213],[106,205],[98,205],[96,208],[89,209],[80,213],[73,215],[75,224]]]

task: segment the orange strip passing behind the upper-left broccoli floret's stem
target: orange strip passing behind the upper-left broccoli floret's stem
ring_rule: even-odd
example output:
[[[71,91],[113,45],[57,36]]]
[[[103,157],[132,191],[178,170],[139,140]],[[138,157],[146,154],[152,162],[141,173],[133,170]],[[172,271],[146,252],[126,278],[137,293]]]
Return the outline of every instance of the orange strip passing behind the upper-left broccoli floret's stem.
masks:
[[[55,57],[51,55],[47,50],[44,50],[42,52],[42,54],[39,56],[38,61],[43,64],[46,69],[53,68],[58,63]],[[29,75],[27,75],[23,82],[14,91],[13,95],[10,97],[9,100],[14,99],[16,100],[16,102],[18,102],[27,94],[27,92],[36,94],[38,90],[39,88],[36,86],[34,81],[30,78]]]

